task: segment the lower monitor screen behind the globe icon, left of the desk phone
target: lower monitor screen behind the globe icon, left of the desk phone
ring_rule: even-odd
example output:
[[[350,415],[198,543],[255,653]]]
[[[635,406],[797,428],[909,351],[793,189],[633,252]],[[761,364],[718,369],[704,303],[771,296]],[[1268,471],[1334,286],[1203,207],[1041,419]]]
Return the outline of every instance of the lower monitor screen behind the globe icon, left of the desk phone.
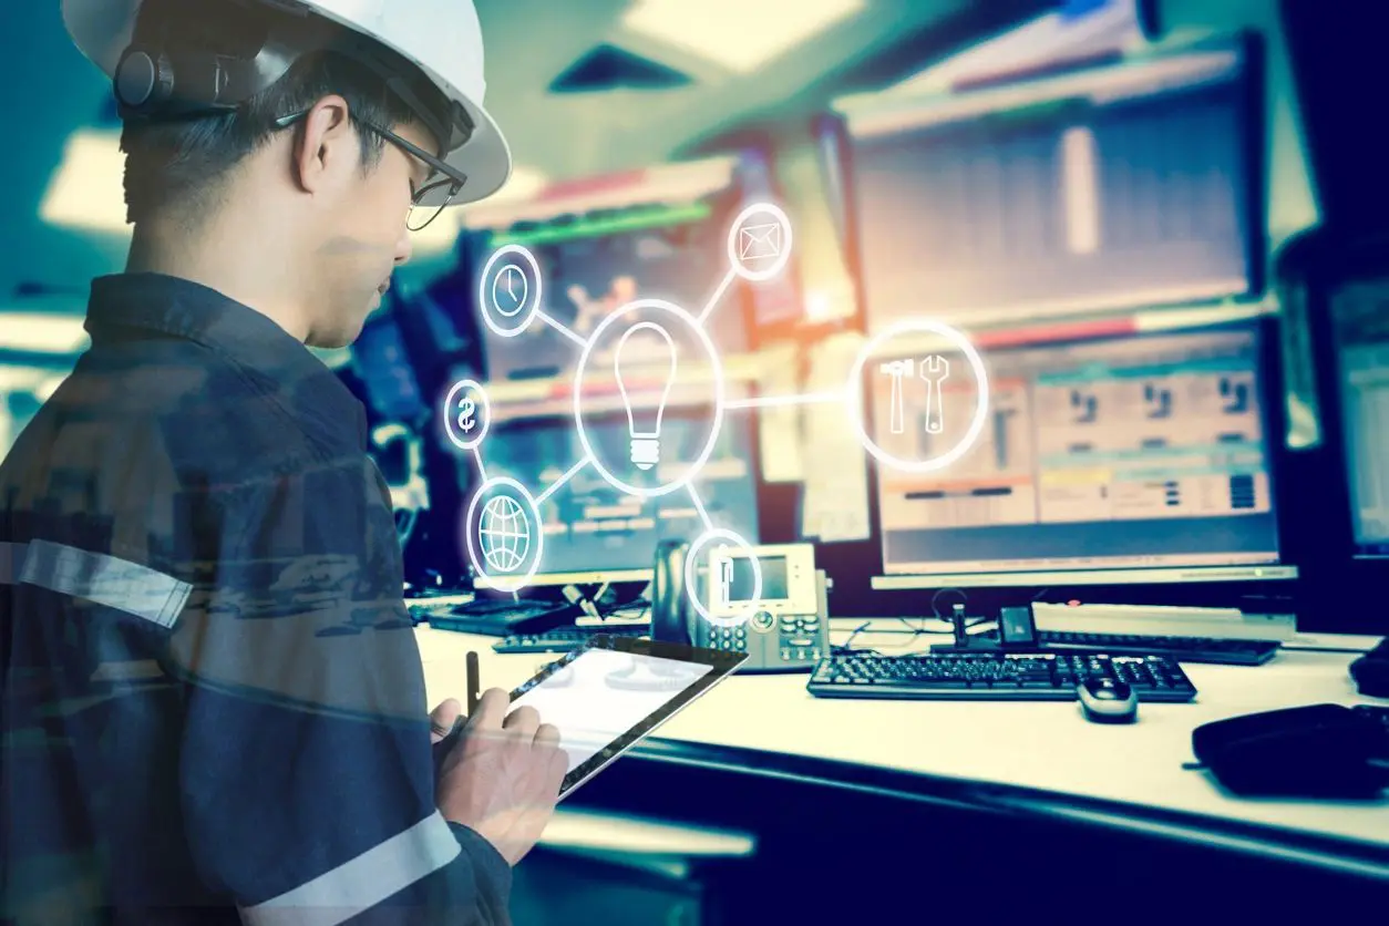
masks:
[[[667,414],[663,441],[672,458],[693,458],[708,435],[707,410]],[[750,416],[728,416],[708,462],[693,485],[715,528],[757,543],[757,483]],[[590,440],[613,458],[626,451],[625,415],[590,415]],[[601,453],[601,450],[600,450]],[[539,496],[585,455],[574,421],[564,418],[497,422],[488,436],[488,478],[510,476]],[[656,483],[658,471],[632,479]],[[639,498],[614,487],[593,466],[579,469],[540,503],[544,553],[535,583],[639,579],[650,573],[661,540],[693,541],[704,532],[688,491]],[[636,573],[642,575],[626,575]]]

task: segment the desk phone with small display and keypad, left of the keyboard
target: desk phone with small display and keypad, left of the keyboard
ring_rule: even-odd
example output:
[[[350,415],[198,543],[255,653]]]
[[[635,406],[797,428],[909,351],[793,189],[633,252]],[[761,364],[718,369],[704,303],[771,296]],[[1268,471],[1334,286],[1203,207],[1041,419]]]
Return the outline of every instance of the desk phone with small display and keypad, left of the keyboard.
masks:
[[[651,634],[697,647],[746,653],[747,672],[810,672],[829,655],[828,578],[808,543],[718,547],[692,571],[706,621],[683,594],[686,547],[657,555]],[[761,589],[754,586],[756,557]],[[756,594],[756,598],[753,597]],[[729,618],[745,618],[732,621]],[[722,626],[720,621],[726,621]]]

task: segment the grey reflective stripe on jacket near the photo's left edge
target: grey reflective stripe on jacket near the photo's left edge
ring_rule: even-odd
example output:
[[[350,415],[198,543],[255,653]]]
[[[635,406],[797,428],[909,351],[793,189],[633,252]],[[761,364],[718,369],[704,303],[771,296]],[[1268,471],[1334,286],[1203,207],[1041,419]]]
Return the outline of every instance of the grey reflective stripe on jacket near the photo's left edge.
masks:
[[[193,586],[138,562],[61,543],[35,540],[17,582],[86,598],[108,608],[172,628]]]

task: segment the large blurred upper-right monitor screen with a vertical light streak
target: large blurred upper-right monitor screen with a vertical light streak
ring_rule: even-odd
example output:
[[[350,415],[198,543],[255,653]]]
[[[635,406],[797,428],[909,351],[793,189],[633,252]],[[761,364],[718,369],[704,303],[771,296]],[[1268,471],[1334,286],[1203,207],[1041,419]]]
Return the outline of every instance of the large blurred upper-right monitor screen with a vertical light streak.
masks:
[[[1247,293],[1247,78],[1224,47],[850,111],[870,330]]]

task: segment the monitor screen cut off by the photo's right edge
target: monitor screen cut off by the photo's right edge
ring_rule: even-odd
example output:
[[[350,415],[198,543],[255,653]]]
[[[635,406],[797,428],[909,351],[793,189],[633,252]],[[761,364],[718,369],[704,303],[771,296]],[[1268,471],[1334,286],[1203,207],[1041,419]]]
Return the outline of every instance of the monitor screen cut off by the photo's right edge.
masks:
[[[1332,298],[1354,554],[1389,557],[1389,279]]]

